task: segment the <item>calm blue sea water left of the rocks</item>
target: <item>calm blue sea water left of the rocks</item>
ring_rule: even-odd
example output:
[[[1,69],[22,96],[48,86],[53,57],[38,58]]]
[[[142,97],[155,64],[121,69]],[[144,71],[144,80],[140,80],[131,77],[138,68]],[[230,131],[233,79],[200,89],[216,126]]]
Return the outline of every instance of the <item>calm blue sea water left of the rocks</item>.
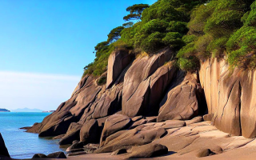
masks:
[[[6,142],[11,158],[32,158],[34,154],[50,154],[64,151],[59,148],[58,140],[38,138],[19,130],[23,126],[32,126],[42,122],[50,113],[2,113],[0,112],[0,133]]]

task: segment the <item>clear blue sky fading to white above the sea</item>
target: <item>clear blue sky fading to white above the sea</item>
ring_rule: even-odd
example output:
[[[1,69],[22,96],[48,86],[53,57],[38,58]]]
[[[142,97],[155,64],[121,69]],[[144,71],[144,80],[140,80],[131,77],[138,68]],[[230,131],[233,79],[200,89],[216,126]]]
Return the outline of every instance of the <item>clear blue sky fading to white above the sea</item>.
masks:
[[[0,0],[0,108],[55,110],[126,7],[154,2]]]

